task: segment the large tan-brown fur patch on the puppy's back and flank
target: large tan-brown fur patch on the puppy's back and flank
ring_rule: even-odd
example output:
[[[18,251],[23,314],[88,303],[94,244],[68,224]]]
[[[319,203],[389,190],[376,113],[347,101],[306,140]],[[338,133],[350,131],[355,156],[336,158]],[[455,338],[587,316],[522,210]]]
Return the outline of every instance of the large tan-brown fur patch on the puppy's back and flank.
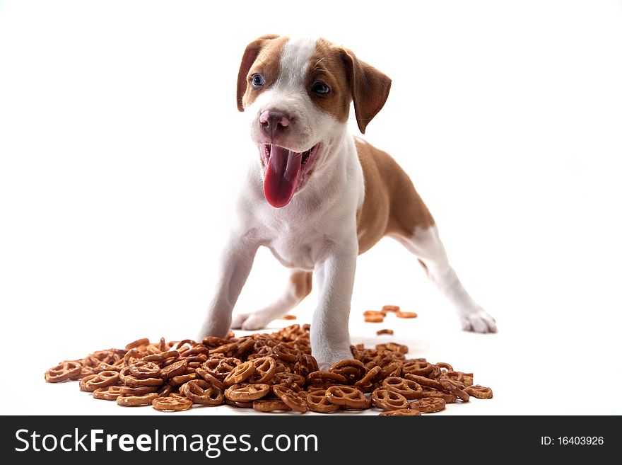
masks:
[[[365,178],[365,200],[357,215],[358,253],[387,234],[411,237],[417,227],[433,226],[428,207],[397,162],[362,139],[354,142]]]

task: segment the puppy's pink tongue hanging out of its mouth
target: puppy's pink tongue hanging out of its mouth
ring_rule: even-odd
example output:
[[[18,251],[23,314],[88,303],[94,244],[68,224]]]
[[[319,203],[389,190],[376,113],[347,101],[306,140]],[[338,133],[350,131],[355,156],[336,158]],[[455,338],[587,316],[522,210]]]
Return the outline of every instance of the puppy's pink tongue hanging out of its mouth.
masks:
[[[270,205],[285,207],[294,196],[303,157],[283,147],[271,145],[270,158],[264,178],[264,195]]]

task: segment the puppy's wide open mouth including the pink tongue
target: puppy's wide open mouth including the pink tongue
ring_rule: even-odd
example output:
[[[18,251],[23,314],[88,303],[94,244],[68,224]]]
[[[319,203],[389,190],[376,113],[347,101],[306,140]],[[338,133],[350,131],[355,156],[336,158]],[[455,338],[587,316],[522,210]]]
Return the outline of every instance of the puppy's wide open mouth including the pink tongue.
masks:
[[[270,205],[285,207],[292,199],[305,173],[309,171],[319,144],[303,152],[295,152],[274,144],[259,145],[259,154],[266,169],[264,195]]]

